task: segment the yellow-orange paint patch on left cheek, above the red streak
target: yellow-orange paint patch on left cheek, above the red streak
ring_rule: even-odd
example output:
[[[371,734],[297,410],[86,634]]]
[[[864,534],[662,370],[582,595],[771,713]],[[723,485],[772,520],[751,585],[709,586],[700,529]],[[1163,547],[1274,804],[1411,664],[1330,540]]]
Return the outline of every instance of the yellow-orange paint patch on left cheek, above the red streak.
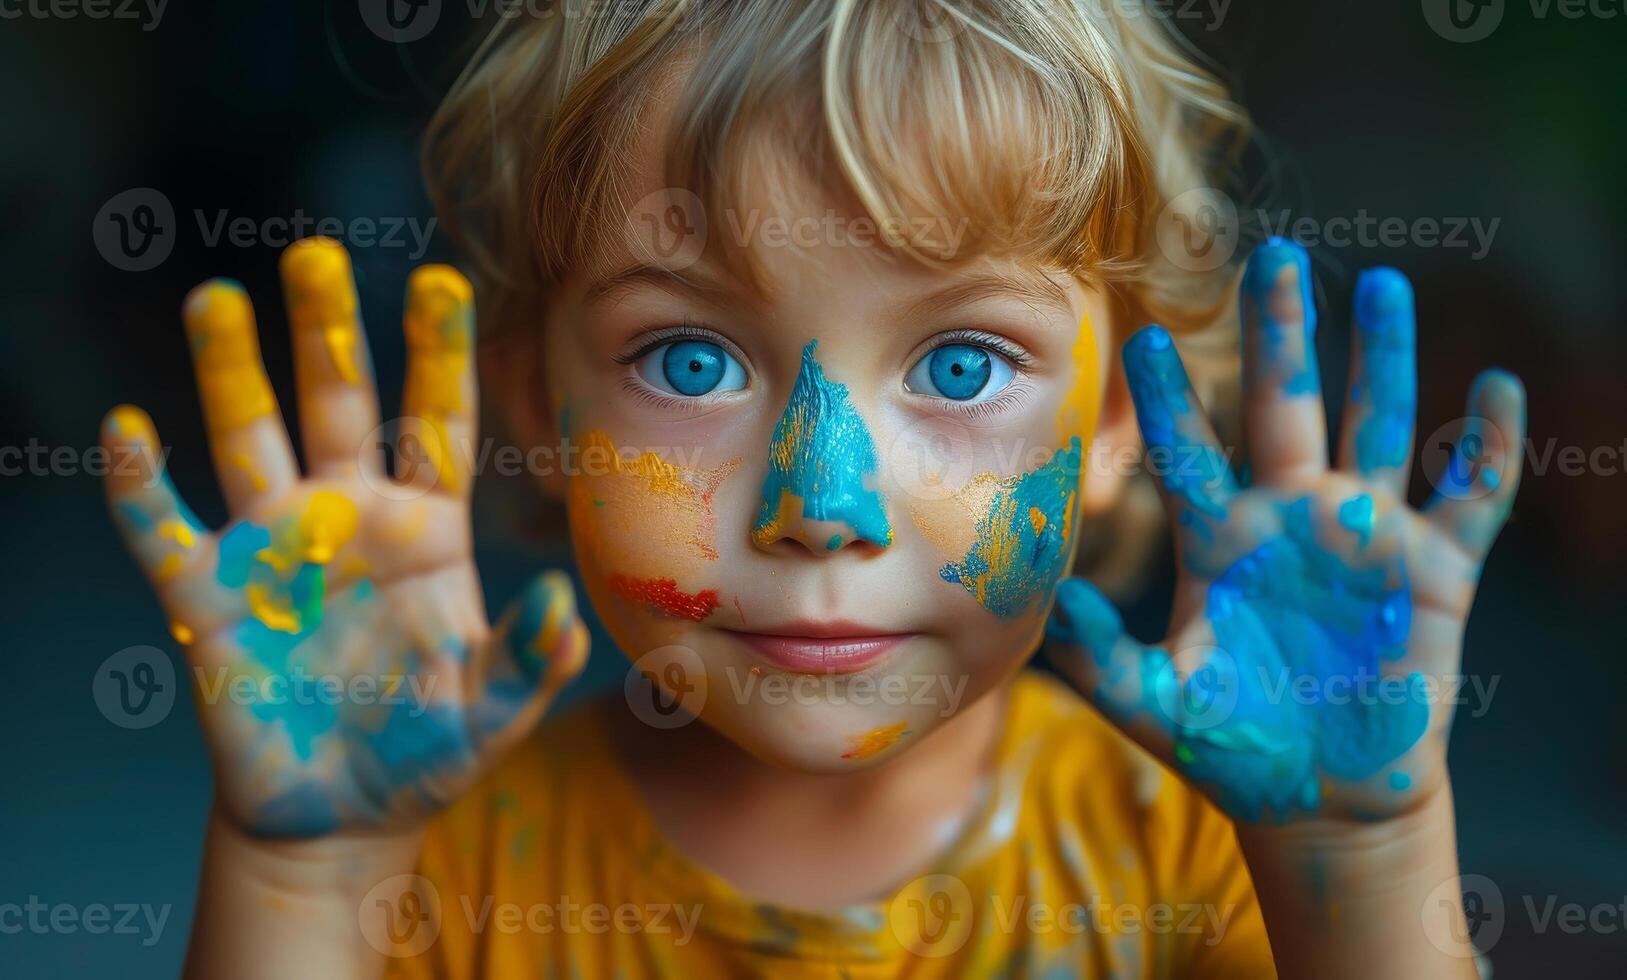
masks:
[[[740,466],[739,459],[711,469],[678,467],[654,453],[626,459],[599,430],[582,436],[581,459],[581,472],[571,480],[571,529],[595,553],[599,534],[592,511],[604,510],[612,519],[636,514],[641,527],[659,526],[661,537],[652,544],[659,544],[661,550],[718,558],[713,495]]]

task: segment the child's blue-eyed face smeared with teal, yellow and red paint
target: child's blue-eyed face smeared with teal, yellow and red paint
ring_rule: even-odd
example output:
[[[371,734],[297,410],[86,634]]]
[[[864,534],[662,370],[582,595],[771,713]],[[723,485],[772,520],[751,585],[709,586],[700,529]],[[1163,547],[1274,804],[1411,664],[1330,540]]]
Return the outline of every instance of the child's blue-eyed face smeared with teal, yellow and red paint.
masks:
[[[1035,267],[856,244],[854,212],[818,192],[755,197],[711,234],[755,236],[770,298],[683,265],[693,249],[662,260],[636,213],[625,249],[555,293],[530,396],[576,448],[573,544],[617,645],[753,754],[856,768],[1036,646],[1077,539],[1108,308]]]

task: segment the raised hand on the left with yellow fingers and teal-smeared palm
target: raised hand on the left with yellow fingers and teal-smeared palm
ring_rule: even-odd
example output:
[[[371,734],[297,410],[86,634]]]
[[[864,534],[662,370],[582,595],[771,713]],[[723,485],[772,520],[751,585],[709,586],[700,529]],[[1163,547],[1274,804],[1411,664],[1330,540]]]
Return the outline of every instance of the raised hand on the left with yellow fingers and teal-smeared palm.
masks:
[[[587,632],[561,573],[486,623],[469,524],[469,282],[428,265],[408,283],[399,448],[425,466],[392,479],[348,256],[301,241],[281,275],[309,472],[247,295],[213,280],[184,319],[233,523],[197,523],[129,405],[103,444],[140,464],[112,467],[107,497],[194,669],[221,814],[252,837],[412,830],[535,724],[581,669]]]

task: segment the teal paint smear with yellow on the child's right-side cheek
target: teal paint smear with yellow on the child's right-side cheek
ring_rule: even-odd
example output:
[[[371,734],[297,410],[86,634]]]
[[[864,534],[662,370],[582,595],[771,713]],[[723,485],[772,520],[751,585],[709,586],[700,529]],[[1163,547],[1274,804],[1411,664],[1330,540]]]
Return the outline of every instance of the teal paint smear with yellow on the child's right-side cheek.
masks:
[[[1067,571],[1066,529],[1079,493],[1082,456],[1084,444],[1074,436],[1045,466],[1004,482],[989,513],[978,519],[971,550],[962,562],[944,565],[942,580],[958,583],[1001,619],[1043,607]],[[1033,511],[1045,516],[1038,529]]]

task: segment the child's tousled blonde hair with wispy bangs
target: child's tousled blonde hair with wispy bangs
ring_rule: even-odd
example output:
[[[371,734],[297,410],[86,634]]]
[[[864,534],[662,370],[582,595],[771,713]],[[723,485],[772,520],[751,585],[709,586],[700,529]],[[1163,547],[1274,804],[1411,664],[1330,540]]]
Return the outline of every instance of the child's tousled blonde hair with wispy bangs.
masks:
[[[747,140],[766,132],[892,230],[892,249],[929,264],[999,254],[1064,269],[1175,330],[1206,400],[1206,381],[1235,373],[1237,330],[1209,329],[1233,272],[1173,264],[1155,223],[1215,182],[1248,119],[1150,3],[519,7],[459,77],[423,153],[488,330],[539,324],[548,291],[623,226],[633,145],[661,93],[674,98],[665,186],[696,194],[711,226],[744,197]],[[958,247],[914,234],[916,215],[965,218]],[[719,259],[755,280],[748,249],[722,243]],[[1141,493],[1129,506],[1145,514]],[[1129,537],[1145,550],[1145,532]],[[1097,565],[1103,540],[1084,544]]]

